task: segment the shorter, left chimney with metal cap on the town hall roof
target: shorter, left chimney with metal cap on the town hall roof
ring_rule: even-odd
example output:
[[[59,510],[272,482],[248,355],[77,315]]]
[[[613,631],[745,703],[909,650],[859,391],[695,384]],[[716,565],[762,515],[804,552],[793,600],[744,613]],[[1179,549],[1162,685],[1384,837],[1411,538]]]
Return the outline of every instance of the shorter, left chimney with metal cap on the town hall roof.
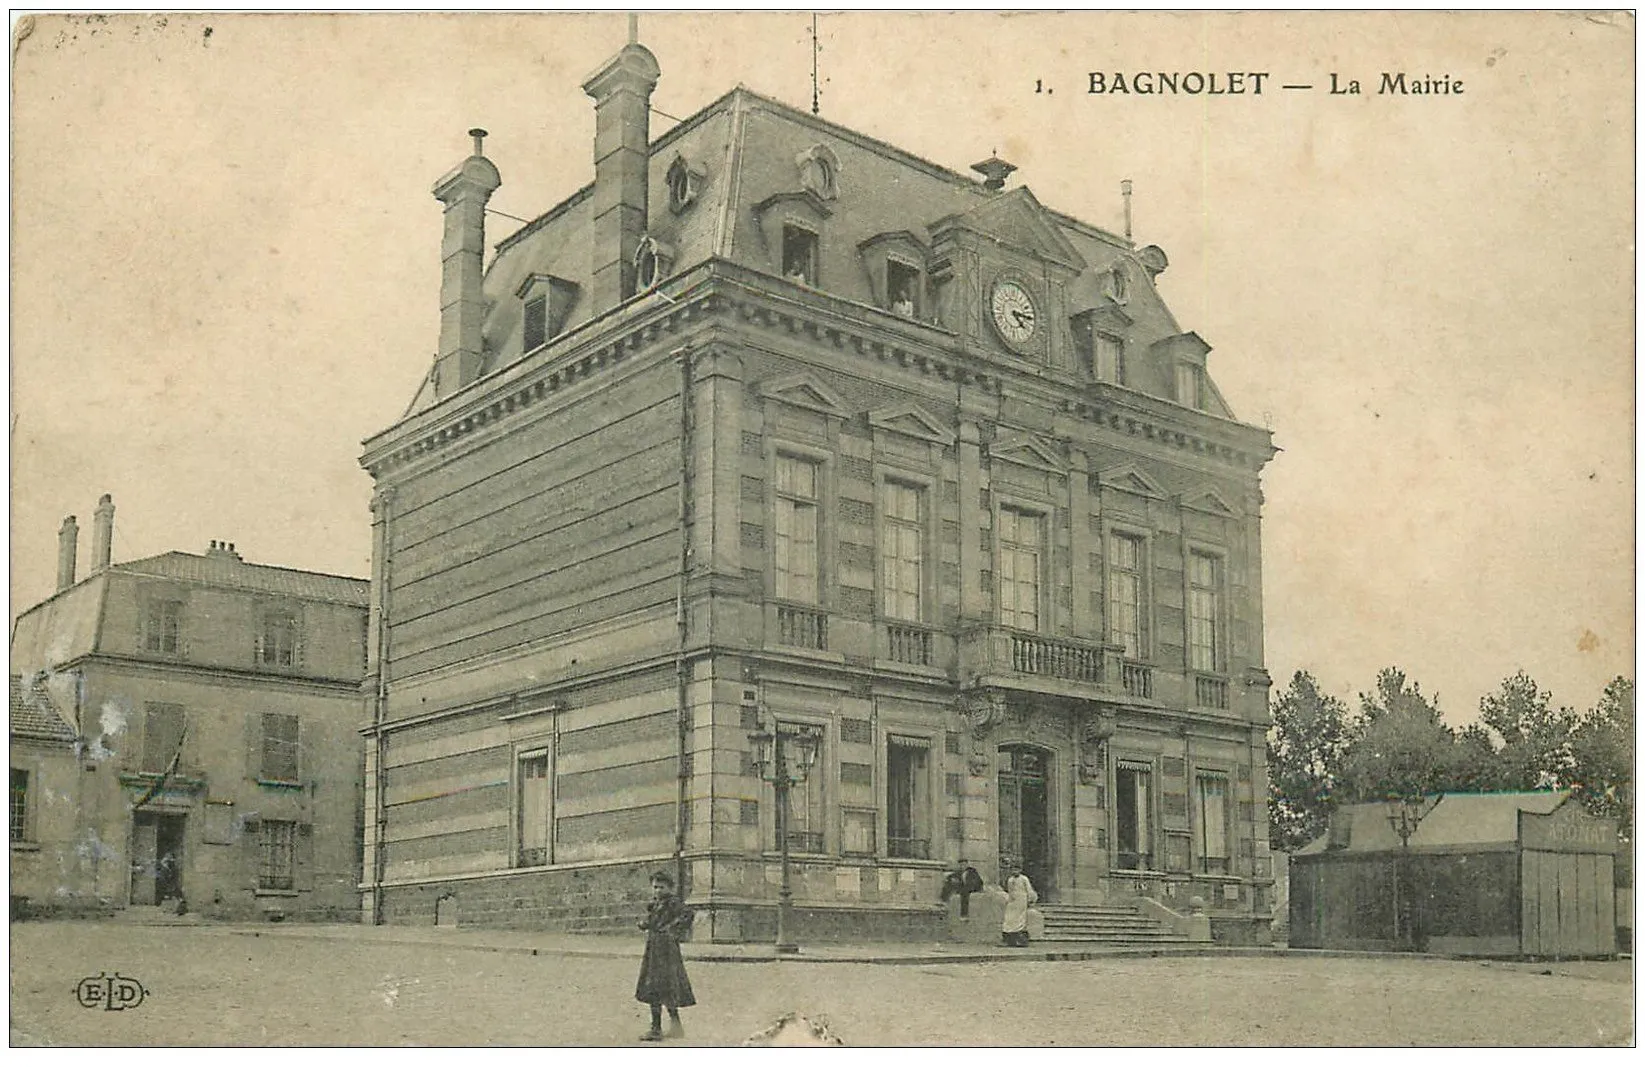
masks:
[[[456,393],[480,376],[485,324],[485,202],[502,176],[485,158],[485,130],[469,130],[474,155],[434,182],[434,199],[446,206],[441,242],[439,355],[434,362],[434,395]]]

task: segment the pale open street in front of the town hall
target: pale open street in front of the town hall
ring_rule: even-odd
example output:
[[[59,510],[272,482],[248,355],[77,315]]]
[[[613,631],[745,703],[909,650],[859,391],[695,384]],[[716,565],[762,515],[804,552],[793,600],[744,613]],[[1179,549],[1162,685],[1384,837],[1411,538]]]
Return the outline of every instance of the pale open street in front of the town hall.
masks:
[[[540,942],[528,955],[485,950],[510,935],[479,931],[13,924],[12,1042],[635,1044],[638,945]],[[686,1044],[739,1044],[801,1011],[855,1046],[1609,1046],[1632,1039],[1633,1013],[1630,962],[1227,955],[689,970],[699,1006],[684,1013]],[[100,972],[138,978],[145,1003],[82,1008],[76,983]]]

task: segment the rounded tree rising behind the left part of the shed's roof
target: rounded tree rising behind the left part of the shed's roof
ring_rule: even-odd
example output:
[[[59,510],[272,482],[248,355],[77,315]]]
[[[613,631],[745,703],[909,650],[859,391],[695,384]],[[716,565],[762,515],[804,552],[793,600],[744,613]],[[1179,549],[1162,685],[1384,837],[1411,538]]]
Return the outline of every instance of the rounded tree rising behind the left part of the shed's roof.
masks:
[[[1355,801],[1395,801],[1449,789],[1456,735],[1439,709],[1398,667],[1377,672],[1377,689],[1359,695],[1360,712],[1342,763]]]

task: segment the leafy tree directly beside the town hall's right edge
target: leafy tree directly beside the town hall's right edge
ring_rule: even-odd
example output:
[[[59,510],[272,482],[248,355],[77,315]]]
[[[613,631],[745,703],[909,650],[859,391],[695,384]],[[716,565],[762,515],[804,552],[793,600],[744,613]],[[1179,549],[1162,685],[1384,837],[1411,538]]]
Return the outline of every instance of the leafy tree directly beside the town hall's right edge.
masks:
[[[1347,705],[1298,671],[1268,728],[1268,842],[1293,852],[1326,832],[1349,743]]]

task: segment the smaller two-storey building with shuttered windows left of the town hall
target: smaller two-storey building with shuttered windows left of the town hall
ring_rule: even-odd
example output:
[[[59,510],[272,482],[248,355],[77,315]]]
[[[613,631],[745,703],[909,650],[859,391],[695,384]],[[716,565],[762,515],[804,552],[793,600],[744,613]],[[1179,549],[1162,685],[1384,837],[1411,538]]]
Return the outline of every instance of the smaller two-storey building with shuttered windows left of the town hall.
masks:
[[[112,539],[104,497],[77,577],[64,520],[12,633],[13,901],[354,917],[367,582]]]

